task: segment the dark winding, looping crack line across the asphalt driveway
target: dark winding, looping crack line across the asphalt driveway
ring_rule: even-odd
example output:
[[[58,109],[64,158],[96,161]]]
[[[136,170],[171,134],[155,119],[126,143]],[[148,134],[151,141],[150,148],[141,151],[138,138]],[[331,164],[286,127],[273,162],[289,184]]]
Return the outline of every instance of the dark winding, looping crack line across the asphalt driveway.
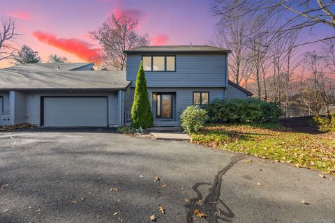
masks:
[[[214,178],[214,183],[195,183],[192,189],[198,195],[193,199],[189,199],[189,202],[185,205],[188,208],[188,213],[186,215],[186,222],[193,223],[194,218],[193,214],[196,209],[200,211],[200,213],[204,213],[206,215],[205,220],[210,223],[217,223],[218,220],[224,222],[231,222],[232,218],[234,217],[234,213],[232,210],[220,199],[221,195],[221,185],[222,185],[222,177],[225,173],[227,173],[230,168],[234,166],[239,160],[242,160],[244,155],[234,155],[230,160],[230,163],[223,167],[221,171],[218,171]],[[209,194],[206,197],[199,191],[199,187],[201,185],[210,185]],[[204,200],[202,203],[202,198]],[[218,208],[218,204],[221,204],[225,210]],[[223,216],[222,216],[223,215]]]

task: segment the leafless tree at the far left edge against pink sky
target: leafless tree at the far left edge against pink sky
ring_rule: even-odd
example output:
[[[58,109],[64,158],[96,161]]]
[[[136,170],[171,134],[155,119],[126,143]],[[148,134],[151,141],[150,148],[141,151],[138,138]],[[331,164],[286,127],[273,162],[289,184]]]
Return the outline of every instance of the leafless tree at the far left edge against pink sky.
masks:
[[[1,20],[0,30],[0,61],[10,59],[15,54],[15,23],[11,18]]]

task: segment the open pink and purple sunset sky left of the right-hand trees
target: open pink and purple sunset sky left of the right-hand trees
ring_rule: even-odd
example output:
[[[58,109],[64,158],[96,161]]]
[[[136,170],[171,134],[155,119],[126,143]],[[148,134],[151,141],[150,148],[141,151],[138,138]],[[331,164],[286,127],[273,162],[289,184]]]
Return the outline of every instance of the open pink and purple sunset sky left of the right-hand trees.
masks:
[[[45,61],[50,54],[70,62],[86,62],[100,52],[89,31],[112,13],[131,13],[140,20],[138,32],[151,45],[205,45],[217,19],[207,0],[0,0],[0,17],[15,19],[17,43],[29,45]],[[0,61],[0,68],[10,63]]]

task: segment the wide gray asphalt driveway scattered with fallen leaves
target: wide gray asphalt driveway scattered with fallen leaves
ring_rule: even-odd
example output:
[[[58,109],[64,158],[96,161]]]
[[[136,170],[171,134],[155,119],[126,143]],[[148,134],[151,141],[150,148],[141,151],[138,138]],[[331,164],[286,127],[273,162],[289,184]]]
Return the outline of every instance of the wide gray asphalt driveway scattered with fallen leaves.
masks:
[[[318,174],[110,130],[0,133],[0,222],[335,222]]]

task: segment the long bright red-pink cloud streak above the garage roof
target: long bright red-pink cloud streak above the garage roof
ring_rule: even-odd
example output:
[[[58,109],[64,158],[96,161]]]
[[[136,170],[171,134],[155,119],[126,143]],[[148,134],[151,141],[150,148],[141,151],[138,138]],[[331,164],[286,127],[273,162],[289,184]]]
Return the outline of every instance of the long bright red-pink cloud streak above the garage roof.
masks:
[[[34,31],[32,35],[37,38],[40,42],[46,43],[58,49],[62,49],[70,54],[74,54],[84,61],[94,61],[101,63],[99,55],[101,49],[94,48],[91,43],[84,42],[77,38],[57,38],[52,33],[44,33],[42,31]]]

